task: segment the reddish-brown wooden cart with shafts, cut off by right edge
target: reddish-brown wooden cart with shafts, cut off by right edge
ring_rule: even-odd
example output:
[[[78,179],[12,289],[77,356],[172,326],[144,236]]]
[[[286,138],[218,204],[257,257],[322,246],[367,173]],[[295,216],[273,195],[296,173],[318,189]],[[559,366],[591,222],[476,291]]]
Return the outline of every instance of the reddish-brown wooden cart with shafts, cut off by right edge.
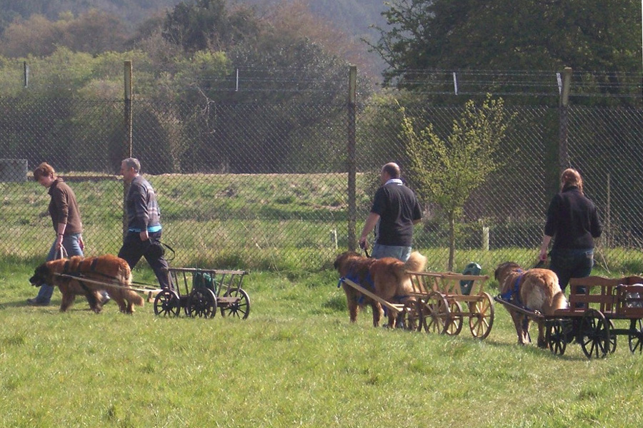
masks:
[[[569,307],[550,316],[514,305],[501,296],[495,300],[533,320],[544,320],[547,346],[554,354],[563,355],[568,343],[577,342],[587,358],[605,357],[616,350],[619,335],[627,336],[631,352],[643,352],[642,277],[572,278],[569,286]],[[615,320],[623,325],[629,321],[629,327],[617,328]]]

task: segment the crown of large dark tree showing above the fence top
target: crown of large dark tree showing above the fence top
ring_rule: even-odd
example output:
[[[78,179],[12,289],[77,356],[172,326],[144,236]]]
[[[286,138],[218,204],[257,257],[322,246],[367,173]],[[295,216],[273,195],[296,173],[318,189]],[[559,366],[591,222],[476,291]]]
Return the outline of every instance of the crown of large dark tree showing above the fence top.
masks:
[[[634,0],[394,0],[372,49],[385,83],[427,84],[418,71],[641,70],[641,8]],[[604,91],[618,91],[618,76]]]

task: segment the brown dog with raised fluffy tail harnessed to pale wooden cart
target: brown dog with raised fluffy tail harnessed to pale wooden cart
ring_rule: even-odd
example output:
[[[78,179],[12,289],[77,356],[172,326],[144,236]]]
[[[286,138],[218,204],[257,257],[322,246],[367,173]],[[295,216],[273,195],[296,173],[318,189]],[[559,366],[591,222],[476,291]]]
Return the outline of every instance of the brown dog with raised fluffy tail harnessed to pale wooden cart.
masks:
[[[386,302],[402,305],[415,299],[411,295],[413,291],[419,291],[413,290],[407,270],[422,271],[426,265],[427,258],[417,251],[411,254],[407,263],[390,257],[367,258],[352,251],[338,255],[334,262],[334,267],[342,278],[357,282]],[[383,315],[382,305],[351,285],[343,281],[341,284],[346,293],[351,322],[357,321],[360,307],[370,305],[373,310],[373,326],[378,327]],[[394,313],[389,311],[388,317],[388,326],[394,328],[397,323]]]

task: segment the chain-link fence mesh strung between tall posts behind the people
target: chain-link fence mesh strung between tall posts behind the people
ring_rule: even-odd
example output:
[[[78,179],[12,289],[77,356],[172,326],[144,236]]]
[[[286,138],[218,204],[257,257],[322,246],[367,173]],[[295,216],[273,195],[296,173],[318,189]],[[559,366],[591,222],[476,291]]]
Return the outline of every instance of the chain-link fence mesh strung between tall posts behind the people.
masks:
[[[454,270],[471,261],[487,272],[506,260],[535,262],[544,215],[557,191],[561,138],[558,108],[511,106],[502,168],[474,190],[459,221]],[[0,251],[42,259],[54,239],[49,196],[27,171],[46,161],[74,188],[86,253],[116,253],[124,186],[117,174],[129,156],[123,101],[0,98]],[[175,266],[316,270],[349,248],[349,109],[285,103],[159,103],[132,106],[131,154],[139,158],[161,205],[163,240]],[[419,124],[448,133],[458,107],[407,106]],[[640,272],[643,228],[643,111],[569,108],[569,163],[605,223],[597,262]],[[397,106],[357,107],[357,233],[379,168],[407,164]],[[17,172],[16,172],[17,170]],[[421,201],[414,248],[430,270],[447,267],[447,225],[439,207]]]

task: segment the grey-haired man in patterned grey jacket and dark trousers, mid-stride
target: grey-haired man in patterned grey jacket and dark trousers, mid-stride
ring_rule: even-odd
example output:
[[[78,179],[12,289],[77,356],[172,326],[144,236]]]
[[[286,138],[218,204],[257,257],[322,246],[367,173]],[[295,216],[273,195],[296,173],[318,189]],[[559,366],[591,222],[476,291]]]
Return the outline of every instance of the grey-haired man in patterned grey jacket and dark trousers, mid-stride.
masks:
[[[167,261],[161,245],[161,210],[156,193],[149,182],[140,175],[141,163],[136,158],[121,162],[121,175],[129,183],[125,204],[127,233],[119,258],[126,260],[131,269],[144,257],[149,263],[161,288],[169,288]]]

